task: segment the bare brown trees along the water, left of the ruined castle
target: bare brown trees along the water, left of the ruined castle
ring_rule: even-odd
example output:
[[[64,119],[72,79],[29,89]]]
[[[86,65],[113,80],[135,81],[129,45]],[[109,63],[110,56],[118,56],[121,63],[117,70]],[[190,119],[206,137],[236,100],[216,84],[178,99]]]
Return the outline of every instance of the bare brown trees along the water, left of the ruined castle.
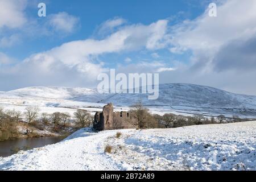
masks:
[[[23,113],[15,109],[4,110],[0,107],[0,140],[18,138],[18,126],[27,126],[24,134],[31,135],[33,133],[31,128],[61,132],[89,127],[93,122],[92,115],[80,109],[73,114],[73,117],[69,113],[39,114],[39,112],[40,109],[36,106],[26,107]]]

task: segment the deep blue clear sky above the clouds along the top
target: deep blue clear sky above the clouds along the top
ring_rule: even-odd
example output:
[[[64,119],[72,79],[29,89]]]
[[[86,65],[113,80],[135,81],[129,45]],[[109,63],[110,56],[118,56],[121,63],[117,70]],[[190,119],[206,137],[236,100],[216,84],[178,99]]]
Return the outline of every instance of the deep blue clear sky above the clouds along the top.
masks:
[[[3,49],[7,53],[15,56],[19,60],[25,59],[32,53],[47,51],[53,47],[59,46],[72,40],[81,40],[88,38],[99,38],[96,34],[97,28],[106,20],[113,18],[123,18],[127,24],[150,24],[159,19],[172,19],[174,22],[180,22],[184,19],[194,19],[207,8],[207,3],[195,2],[193,6],[187,1],[82,1],[74,2],[68,0],[54,1],[34,1],[27,6],[26,14],[31,19],[38,21],[38,26],[44,24],[46,18],[38,17],[38,3],[45,2],[47,6],[47,15],[66,12],[79,18],[79,24],[76,30],[67,36],[53,35],[32,36],[11,48]],[[172,23],[172,22],[171,22]],[[23,46],[26,45],[26,46]],[[120,56],[120,55],[119,55]],[[125,56],[125,55],[123,55]],[[123,56],[121,56],[123,58]],[[184,59],[185,60],[185,59]]]

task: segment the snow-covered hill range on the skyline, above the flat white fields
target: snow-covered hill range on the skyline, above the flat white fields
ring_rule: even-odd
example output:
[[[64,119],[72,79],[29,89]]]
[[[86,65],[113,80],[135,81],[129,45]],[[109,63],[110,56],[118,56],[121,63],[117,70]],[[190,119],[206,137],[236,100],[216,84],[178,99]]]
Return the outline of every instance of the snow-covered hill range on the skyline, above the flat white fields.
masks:
[[[64,87],[30,87],[0,93],[0,98],[52,98],[82,102],[113,102],[130,106],[138,100],[151,106],[199,106],[256,108],[256,96],[234,94],[224,90],[193,84],[162,84],[158,100],[148,100],[147,94],[100,94],[96,89]]]

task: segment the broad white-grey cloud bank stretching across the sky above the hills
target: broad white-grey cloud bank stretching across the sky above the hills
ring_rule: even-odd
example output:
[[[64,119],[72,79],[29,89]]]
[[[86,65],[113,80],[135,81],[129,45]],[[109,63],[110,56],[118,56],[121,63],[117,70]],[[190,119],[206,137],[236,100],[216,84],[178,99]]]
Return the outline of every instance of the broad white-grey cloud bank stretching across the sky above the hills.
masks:
[[[12,9],[15,8],[10,11]],[[24,24],[23,9],[20,6],[18,14],[23,17],[21,22]],[[119,17],[109,19],[98,27],[98,33],[104,35],[102,38],[67,42],[31,55],[18,64],[2,65],[0,86],[13,87],[6,87],[4,80],[15,87],[96,86],[98,73],[109,70],[106,61],[99,56],[146,51],[151,60],[134,60],[126,56],[117,65],[117,72],[159,72],[160,82],[187,82],[256,94],[253,81],[256,77],[255,9],[254,0],[233,0],[218,3],[217,17],[214,18],[208,16],[207,9],[196,19],[179,23],[163,19],[151,24],[128,24]],[[72,32],[77,21],[75,16],[59,13],[51,16],[49,22],[52,23],[49,24],[54,24],[52,27],[56,31]],[[15,28],[11,22],[0,22],[0,28]],[[20,27],[22,23],[16,26]],[[0,46],[6,42],[0,39]],[[168,59],[168,63],[161,50],[169,51],[176,58]]]

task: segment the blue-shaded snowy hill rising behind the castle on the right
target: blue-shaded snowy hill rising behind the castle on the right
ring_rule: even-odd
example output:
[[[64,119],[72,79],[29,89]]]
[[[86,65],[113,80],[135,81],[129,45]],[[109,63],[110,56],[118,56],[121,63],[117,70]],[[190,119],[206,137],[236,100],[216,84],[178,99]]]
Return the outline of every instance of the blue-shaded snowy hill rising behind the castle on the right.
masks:
[[[137,96],[137,97],[136,97]],[[140,98],[144,105],[199,106],[199,107],[232,107],[256,108],[256,96],[234,94],[224,90],[193,84],[159,85],[158,100],[148,100],[147,94],[115,94],[104,100],[118,105],[133,104]]]

